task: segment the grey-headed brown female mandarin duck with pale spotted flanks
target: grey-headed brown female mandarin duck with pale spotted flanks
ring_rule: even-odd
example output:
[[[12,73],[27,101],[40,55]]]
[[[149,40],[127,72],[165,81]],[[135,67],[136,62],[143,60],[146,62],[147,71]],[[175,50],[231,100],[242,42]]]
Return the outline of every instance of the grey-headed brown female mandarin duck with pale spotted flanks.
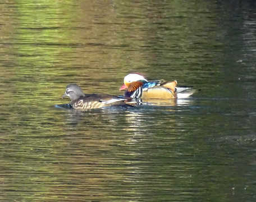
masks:
[[[72,108],[79,111],[108,107],[112,105],[132,105],[131,99],[118,98],[108,94],[84,94],[83,90],[77,84],[67,85],[65,94],[62,98],[70,97]]]

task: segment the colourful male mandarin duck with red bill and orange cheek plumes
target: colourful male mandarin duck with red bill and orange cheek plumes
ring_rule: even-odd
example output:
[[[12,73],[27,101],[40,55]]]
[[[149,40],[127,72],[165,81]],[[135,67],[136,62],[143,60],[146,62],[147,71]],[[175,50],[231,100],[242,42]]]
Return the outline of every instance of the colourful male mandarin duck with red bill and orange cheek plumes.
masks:
[[[197,90],[190,86],[176,87],[177,81],[148,81],[140,74],[129,74],[124,78],[120,90],[127,89],[125,97],[141,99],[172,99],[187,98]]]

